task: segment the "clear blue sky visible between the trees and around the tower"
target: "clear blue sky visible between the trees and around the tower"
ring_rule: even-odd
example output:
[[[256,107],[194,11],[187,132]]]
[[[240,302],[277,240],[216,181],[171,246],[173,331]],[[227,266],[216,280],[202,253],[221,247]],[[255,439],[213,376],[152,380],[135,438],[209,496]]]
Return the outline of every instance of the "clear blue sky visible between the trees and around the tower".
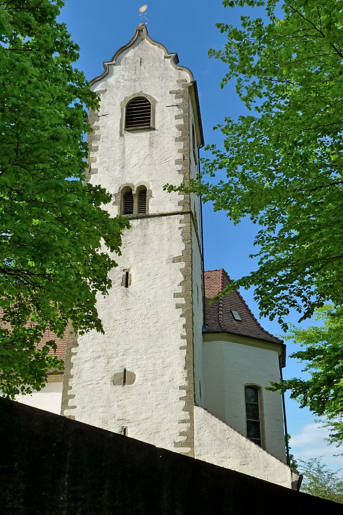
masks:
[[[139,24],[138,10],[143,2],[126,0],[66,0],[60,20],[67,24],[72,39],[80,46],[77,67],[87,79],[100,75],[102,61],[108,61],[113,54],[134,35]],[[251,11],[251,10],[250,10]],[[149,0],[147,18],[148,31],[152,39],[164,44],[169,52],[177,52],[180,64],[191,69],[198,82],[200,108],[206,144],[222,145],[220,131],[213,126],[221,123],[225,116],[237,117],[247,110],[235,92],[235,84],[230,81],[220,89],[220,81],[226,73],[224,63],[208,58],[208,49],[223,48],[225,35],[216,23],[239,24],[239,16],[247,14],[247,9],[228,9],[220,0]],[[202,155],[205,152],[202,151]],[[249,259],[253,252],[254,234],[258,228],[249,220],[234,227],[223,212],[214,213],[209,204],[204,205],[204,245],[205,268],[225,268],[233,278],[249,273],[255,266]],[[258,317],[258,307],[252,291],[242,292],[253,313]],[[290,318],[296,322],[296,317]],[[277,322],[261,320],[265,329],[280,334]],[[295,346],[288,344],[288,353]],[[288,359],[284,377],[301,373],[301,366]],[[323,437],[328,431],[320,429],[307,409],[300,409],[294,401],[287,401],[288,432],[292,436],[292,453],[307,459],[324,456],[326,464],[337,469],[343,468],[343,457],[333,457],[339,450],[328,447]],[[341,451],[343,452],[343,450]]]

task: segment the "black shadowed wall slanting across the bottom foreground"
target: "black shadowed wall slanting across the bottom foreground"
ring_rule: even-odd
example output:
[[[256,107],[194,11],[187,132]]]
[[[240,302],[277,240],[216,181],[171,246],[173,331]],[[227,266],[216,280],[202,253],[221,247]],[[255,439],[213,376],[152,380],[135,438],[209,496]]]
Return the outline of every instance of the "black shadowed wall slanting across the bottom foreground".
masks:
[[[278,515],[332,503],[0,399],[2,515]]]

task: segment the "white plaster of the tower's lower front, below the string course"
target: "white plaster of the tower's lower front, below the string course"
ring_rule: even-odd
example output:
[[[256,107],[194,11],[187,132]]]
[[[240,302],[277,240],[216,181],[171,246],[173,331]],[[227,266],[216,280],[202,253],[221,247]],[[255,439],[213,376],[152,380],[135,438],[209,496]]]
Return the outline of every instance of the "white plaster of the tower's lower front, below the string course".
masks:
[[[182,293],[182,264],[173,263],[185,245],[175,218],[132,220],[119,266],[111,272],[113,287],[97,301],[105,335],[78,337],[70,379],[75,408],[64,409],[64,415],[116,433],[127,426],[129,436],[166,449],[185,439],[178,422],[186,418],[180,400],[186,384],[184,319],[174,298],[177,290]],[[123,268],[132,275],[128,288],[121,286]],[[135,383],[113,386],[113,375],[124,368],[136,374]]]

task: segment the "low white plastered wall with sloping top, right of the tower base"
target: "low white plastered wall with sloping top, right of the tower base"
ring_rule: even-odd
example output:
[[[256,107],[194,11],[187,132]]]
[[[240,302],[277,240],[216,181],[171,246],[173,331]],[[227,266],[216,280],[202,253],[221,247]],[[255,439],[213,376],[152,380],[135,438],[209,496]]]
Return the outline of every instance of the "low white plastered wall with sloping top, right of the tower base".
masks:
[[[295,486],[298,475],[287,465],[199,406],[194,406],[194,425],[195,458],[275,485]]]

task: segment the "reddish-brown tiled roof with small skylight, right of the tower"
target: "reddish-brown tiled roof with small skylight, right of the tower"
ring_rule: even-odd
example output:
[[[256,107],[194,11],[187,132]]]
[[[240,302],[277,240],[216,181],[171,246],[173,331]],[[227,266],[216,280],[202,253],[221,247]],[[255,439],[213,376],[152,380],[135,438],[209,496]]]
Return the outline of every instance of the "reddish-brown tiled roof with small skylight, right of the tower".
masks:
[[[219,301],[209,304],[209,299],[216,297],[230,283],[231,279],[223,268],[205,271],[207,332],[238,334],[282,344],[282,340],[263,329],[238,291],[233,291],[221,297]],[[235,320],[231,310],[237,311],[241,320]]]

